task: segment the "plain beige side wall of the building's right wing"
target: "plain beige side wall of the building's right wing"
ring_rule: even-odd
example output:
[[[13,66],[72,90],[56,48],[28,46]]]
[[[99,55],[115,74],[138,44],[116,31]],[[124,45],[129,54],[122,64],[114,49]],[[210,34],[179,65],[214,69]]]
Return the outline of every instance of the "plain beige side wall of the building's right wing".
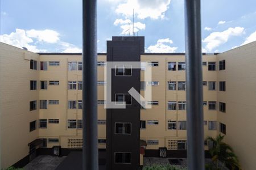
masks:
[[[218,121],[226,125],[225,141],[234,148],[242,169],[256,169],[256,41],[217,55],[226,69],[217,71],[217,81],[226,82],[226,91],[217,100],[226,103],[226,113]]]

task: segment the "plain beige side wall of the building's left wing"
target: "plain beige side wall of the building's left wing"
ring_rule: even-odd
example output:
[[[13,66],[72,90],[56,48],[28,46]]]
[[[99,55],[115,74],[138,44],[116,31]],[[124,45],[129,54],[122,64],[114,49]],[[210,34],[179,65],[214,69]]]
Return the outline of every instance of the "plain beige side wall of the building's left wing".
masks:
[[[30,80],[39,80],[39,71],[30,70],[30,59],[39,55],[0,42],[1,166],[9,167],[28,155],[28,143],[38,138],[30,122],[38,124],[39,91],[30,90]],[[39,86],[38,86],[39,88]],[[30,101],[37,109],[30,111]]]

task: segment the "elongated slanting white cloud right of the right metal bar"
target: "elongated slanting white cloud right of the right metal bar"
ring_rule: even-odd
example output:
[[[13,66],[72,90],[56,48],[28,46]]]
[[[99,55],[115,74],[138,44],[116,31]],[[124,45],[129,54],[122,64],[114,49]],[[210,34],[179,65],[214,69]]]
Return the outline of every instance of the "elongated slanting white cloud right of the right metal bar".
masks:
[[[206,43],[205,49],[211,52],[217,46],[227,42],[230,37],[242,35],[243,30],[244,28],[242,27],[235,27],[235,28],[228,28],[222,32],[212,32],[208,37],[206,37],[203,40],[203,42]]]

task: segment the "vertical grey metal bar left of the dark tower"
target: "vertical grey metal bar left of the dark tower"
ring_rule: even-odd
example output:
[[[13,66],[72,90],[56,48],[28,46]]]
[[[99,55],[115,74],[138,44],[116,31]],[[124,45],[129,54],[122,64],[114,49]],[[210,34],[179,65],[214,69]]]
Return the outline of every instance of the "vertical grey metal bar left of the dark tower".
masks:
[[[97,0],[82,1],[82,169],[98,169]]]

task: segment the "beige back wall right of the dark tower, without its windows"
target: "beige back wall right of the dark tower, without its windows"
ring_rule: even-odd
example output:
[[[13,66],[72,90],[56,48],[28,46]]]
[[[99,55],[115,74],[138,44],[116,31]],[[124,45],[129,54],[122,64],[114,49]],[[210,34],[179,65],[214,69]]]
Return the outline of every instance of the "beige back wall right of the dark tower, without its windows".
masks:
[[[152,81],[159,81],[159,86],[152,86],[152,100],[159,101],[158,105],[152,105],[152,109],[141,109],[141,120],[158,120],[159,125],[146,125],[146,129],[141,129],[141,139],[158,140],[159,145],[148,145],[147,149],[159,149],[167,147],[169,140],[185,140],[186,130],[168,130],[168,120],[186,121],[186,111],[168,110],[168,101],[185,101],[185,91],[168,90],[168,81],[185,82],[185,71],[177,71],[177,63],[185,62],[184,54],[181,55],[142,55],[141,61],[155,61],[158,66],[152,67]],[[204,62],[216,61],[216,56],[203,56]],[[168,71],[168,62],[176,62],[176,71]],[[141,80],[144,80],[144,73],[141,71]],[[146,80],[145,80],[146,81]],[[207,81],[207,86],[203,87],[204,101],[216,101],[216,91],[208,90],[208,81],[216,81],[216,71],[208,71],[208,65],[203,66],[203,81]],[[203,83],[203,82],[202,82]],[[144,94],[144,91],[141,91]],[[204,120],[216,121],[217,112],[209,111],[208,104],[204,106]],[[216,136],[216,130],[208,130],[208,124],[204,126],[205,137]],[[205,149],[208,147],[205,146]]]

